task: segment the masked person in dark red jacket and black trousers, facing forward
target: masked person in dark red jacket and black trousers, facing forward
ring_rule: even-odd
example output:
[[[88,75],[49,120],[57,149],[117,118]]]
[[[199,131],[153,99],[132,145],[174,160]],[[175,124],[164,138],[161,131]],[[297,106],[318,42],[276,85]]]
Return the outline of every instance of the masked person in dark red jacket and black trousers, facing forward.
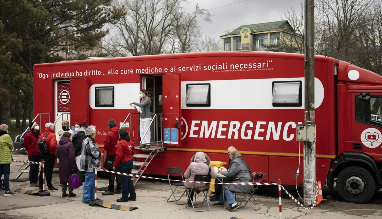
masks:
[[[30,130],[24,137],[24,149],[28,152],[28,160],[40,162],[41,153],[37,147],[37,141],[40,139],[40,126],[36,122],[29,125]],[[29,182],[31,187],[38,187],[39,164],[29,164]]]

